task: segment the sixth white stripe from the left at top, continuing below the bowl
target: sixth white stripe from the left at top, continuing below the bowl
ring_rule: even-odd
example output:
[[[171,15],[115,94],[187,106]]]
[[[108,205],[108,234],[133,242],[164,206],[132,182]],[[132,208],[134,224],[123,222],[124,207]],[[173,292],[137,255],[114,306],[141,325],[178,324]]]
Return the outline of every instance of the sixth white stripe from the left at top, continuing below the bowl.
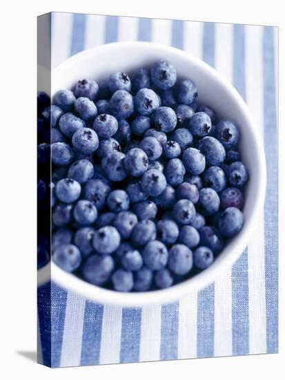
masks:
[[[233,26],[215,24],[215,68],[228,82],[233,81]],[[231,269],[215,281],[215,357],[232,354]]]

